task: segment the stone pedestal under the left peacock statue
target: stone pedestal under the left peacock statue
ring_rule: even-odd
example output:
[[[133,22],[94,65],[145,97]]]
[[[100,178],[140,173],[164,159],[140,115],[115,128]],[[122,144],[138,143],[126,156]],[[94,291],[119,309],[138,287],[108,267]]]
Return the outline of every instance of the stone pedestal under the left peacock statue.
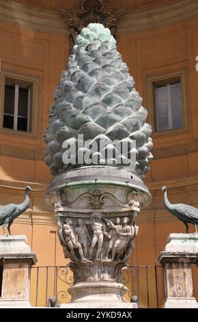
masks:
[[[36,253],[31,253],[26,236],[0,236],[0,306],[31,306],[30,268],[36,262]]]

